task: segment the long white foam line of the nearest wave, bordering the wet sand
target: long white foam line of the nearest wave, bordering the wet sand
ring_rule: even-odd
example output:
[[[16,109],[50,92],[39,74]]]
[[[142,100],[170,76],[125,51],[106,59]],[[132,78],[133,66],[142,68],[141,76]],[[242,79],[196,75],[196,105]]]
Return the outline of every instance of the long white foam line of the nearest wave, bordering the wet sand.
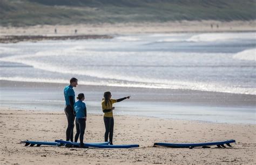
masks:
[[[49,78],[29,78],[29,77],[0,77],[0,80],[18,81],[18,82],[42,82],[42,83],[63,83],[67,81],[63,79]],[[106,82],[106,81],[84,81],[79,79],[81,85],[106,85],[109,87],[133,87],[133,88],[152,88],[152,89],[186,89],[200,90],[213,92],[227,92],[232,94],[250,94],[256,95],[255,88],[228,87],[221,84],[211,84],[204,82],[186,82],[186,81],[171,81],[169,84],[163,83],[136,83],[136,82]]]

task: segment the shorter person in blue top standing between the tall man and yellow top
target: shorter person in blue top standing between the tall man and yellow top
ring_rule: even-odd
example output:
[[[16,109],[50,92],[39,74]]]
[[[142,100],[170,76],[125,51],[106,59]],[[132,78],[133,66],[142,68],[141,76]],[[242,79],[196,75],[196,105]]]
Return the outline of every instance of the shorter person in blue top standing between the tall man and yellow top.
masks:
[[[84,101],[84,94],[78,94],[78,101],[75,103],[74,109],[76,112],[76,130],[75,142],[77,142],[78,137],[80,140],[80,147],[84,148],[84,131],[86,127],[86,105]],[[79,136],[80,135],[80,136]]]

